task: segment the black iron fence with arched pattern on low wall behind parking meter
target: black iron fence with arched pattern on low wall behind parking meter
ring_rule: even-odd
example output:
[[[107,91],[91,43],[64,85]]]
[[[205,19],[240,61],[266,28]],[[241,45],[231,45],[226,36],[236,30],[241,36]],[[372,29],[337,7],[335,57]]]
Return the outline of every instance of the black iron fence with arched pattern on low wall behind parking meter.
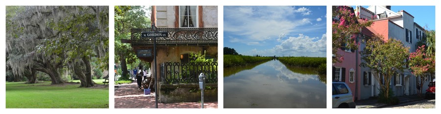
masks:
[[[197,83],[200,73],[205,74],[205,83],[218,83],[217,62],[161,64],[161,81],[167,84]]]

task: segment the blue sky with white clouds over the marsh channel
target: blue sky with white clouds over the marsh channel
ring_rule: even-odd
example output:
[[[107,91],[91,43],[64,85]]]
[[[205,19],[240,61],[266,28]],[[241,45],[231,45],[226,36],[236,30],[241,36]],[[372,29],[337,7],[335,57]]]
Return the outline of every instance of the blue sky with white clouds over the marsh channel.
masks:
[[[239,54],[326,56],[326,6],[224,6],[223,21]]]

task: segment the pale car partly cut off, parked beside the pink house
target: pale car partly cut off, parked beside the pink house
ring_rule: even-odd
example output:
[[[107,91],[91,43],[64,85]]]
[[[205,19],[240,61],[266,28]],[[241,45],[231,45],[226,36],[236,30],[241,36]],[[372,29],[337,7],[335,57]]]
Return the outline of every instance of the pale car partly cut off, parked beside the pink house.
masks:
[[[332,82],[332,108],[355,108],[351,89],[344,82]]]

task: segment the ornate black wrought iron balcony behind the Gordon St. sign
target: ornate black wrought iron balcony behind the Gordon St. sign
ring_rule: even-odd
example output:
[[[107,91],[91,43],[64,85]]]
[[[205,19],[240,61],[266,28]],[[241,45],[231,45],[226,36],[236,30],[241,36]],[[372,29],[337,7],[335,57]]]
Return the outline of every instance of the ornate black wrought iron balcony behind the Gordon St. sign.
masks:
[[[151,28],[132,28],[132,46],[153,46],[153,38],[142,38],[141,32]],[[157,37],[156,46],[218,46],[218,28],[158,28],[168,32],[169,37]]]

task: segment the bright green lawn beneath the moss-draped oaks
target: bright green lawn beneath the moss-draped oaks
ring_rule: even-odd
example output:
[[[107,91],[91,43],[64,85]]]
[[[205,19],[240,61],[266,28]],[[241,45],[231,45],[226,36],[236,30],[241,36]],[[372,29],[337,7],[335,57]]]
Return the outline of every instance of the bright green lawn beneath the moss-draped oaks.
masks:
[[[109,108],[108,87],[78,87],[79,84],[6,82],[6,108]]]

